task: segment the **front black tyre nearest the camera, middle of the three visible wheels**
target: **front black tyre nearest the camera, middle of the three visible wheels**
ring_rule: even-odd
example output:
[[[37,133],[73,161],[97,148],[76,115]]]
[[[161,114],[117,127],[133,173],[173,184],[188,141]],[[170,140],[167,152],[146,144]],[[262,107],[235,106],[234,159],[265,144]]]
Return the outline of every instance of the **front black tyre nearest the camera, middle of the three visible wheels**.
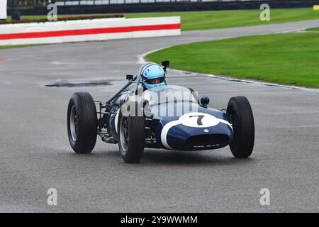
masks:
[[[134,102],[133,102],[134,104]],[[137,108],[140,108],[135,102]],[[145,120],[143,116],[122,116],[118,121],[118,148],[124,162],[140,162],[144,152]]]

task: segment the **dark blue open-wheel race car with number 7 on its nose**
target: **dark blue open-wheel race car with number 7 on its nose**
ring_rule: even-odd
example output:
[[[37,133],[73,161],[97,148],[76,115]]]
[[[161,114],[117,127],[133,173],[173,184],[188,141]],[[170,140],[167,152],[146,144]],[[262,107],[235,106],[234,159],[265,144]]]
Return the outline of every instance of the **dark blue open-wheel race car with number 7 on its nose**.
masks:
[[[67,132],[75,153],[91,153],[96,137],[118,143],[125,162],[139,162],[144,148],[212,150],[227,145],[234,157],[249,157],[254,147],[254,118],[245,96],[228,101],[227,110],[208,108],[191,88],[167,85],[145,89],[147,62],[108,101],[94,101],[87,92],[69,100]],[[162,62],[166,75],[169,62]],[[157,65],[158,66],[158,65]],[[96,108],[97,106],[97,108]],[[97,111],[98,109],[98,111]]]

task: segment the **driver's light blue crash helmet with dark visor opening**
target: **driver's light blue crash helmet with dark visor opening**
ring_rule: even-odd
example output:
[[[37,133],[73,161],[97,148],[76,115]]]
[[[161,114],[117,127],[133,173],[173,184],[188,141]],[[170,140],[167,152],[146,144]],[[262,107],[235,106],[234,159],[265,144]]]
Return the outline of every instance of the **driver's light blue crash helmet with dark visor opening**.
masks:
[[[161,88],[167,84],[163,68],[155,63],[145,65],[141,77],[142,85],[146,89]]]

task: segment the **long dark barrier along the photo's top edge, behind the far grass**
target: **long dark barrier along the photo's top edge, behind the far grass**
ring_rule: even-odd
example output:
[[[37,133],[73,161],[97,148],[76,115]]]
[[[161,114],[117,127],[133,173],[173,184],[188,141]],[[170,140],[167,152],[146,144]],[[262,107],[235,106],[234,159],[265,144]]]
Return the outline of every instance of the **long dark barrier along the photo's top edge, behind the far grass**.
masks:
[[[2,1],[2,0],[0,0]],[[24,0],[11,0],[24,1]],[[31,1],[31,0],[30,0]],[[50,1],[50,0],[37,0]],[[51,3],[54,0],[51,0]],[[271,4],[272,9],[312,8],[319,0],[55,0],[62,2],[58,11],[67,14],[103,14],[103,13],[142,13],[142,12],[177,12],[177,11],[221,11],[240,9],[259,9],[260,4]],[[67,2],[73,2],[68,5]],[[102,2],[104,1],[104,2]],[[76,4],[75,4],[75,3]],[[84,4],[85,2],[85,4]],[[101,4],[105,3],[105,4]],[[64,5],[65,4],[65,5]],[[80,5],[79,5],[80,4]],[[95,5],[94,5],[95,4]],[[8,7],[8,15],[18,12],[21,16],[45,15],[45,6]]]

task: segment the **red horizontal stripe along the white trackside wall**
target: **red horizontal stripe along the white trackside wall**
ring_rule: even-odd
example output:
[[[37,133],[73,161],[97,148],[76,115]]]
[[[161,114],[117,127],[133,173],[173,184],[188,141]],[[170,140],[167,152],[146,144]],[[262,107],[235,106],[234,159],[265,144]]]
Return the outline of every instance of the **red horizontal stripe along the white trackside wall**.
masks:
[[[77,30],[64,30],[64,31],[40,31],[33,33],[10,33],[0,34],[0,40],[12,40],[16,38],[46,38],[57,37],[67,35],[94,35],[104,33],[128,33],[133,31],[152,31],[152,30],[172,30],[180,29],[179,23],[172,24],[160,24],[152,26],[129,26],[118,28],[89,28],[89,29],[77,29]]]

